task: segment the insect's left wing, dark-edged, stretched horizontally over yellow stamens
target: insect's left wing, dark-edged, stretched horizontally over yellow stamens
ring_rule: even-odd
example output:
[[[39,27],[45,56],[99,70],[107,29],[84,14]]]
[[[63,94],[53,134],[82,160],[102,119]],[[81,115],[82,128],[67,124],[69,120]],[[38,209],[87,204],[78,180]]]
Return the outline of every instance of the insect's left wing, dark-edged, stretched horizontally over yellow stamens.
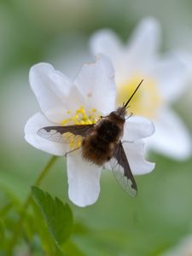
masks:
[[[90,135],[94,124],[46,126],[38,130],[38,136],[55,143],[79,143],[82,137]]]

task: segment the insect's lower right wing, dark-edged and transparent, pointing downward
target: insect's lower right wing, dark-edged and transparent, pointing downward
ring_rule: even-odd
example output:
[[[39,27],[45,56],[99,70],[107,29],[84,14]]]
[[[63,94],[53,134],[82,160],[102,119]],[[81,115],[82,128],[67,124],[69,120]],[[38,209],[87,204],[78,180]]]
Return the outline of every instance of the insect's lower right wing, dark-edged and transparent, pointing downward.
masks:
[[[110,163],[117,181],[129,195],[135,197],[137,195],[137,183],[132,175],[121,141],[117,144]]]

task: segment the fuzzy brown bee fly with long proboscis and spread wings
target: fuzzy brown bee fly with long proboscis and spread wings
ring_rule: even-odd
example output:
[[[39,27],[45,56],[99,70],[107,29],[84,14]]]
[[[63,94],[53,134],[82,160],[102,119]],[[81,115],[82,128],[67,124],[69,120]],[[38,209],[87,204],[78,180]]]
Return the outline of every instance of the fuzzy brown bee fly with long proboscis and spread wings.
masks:
[[[130,195],[136,196],[137,183],[132,175],[121,137],[123,137],[126,109],[129,108],[129,102],[142,83],[143,80],[122,107],[109,113],[108,116],[101,117],[96,124],[47,126],[38,130],[38,136],[56,143],[69,143],[69,135],[73,135],[73,139],[81,137],[80,146],[68,153],[81,148],[82,158],[90,163],[104,166],[110,161],[119,183]]]

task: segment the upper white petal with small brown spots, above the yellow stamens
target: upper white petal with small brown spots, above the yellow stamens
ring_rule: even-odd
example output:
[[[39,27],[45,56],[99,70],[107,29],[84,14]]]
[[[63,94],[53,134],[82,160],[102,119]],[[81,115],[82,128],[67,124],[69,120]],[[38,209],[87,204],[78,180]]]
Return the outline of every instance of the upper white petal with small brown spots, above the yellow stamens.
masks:
[[[74,84],[84,96],[88,108],[96,108],[102,114],[110,113],[115,108],[113,67],[104,55],[98,55],[95,62],[84,64]]]

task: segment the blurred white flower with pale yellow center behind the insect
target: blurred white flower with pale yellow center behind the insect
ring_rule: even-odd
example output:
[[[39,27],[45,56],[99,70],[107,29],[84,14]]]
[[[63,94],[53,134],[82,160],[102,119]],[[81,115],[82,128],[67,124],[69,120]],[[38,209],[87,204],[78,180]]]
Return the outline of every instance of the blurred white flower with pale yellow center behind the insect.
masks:
[[[130,109],[154,121],[155,134],[149,140],[149,148],[183,160],[191,154],[191,139],[170,105],[181,98],[187,84],[187,70],[176,55],[157,55],[159,42],[159,23],[146,18],[137,26],[129,44],[121,44],[119,38],[106,29],[93,35],[90,47],[94,54],[108,55],[113,61],[117,105],[144,79]]]

